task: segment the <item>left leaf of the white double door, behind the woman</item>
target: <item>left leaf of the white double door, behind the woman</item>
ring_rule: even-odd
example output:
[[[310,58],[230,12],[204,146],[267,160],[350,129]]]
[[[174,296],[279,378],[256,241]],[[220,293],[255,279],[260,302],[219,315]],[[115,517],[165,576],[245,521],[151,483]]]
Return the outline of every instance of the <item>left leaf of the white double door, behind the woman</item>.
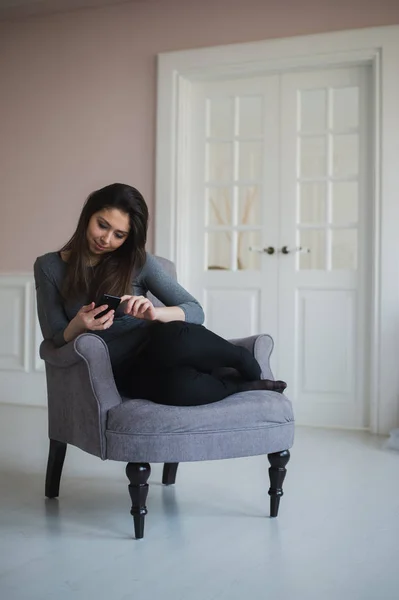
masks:
[[[228,338],[277,329],[279,78],[194,86],[193,265],[206,325]],[[272,291],[271,291],[272,290]]]

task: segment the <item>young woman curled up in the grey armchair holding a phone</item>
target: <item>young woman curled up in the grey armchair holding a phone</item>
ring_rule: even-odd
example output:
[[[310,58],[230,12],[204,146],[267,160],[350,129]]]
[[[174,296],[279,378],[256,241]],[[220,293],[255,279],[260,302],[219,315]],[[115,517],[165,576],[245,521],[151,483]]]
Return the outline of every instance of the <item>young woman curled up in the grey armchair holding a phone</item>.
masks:
[[[56,346],[85,332],[102,337],[116,385],[130,398],[189,406],[240,391],[284,391],[284,382],[260,379],[248,350],[202,326],[197,300],[146,253],[147,225],[135,188],[115,183],[89,196],[69,242],[35,262],[44,337]],[[165,306],[154,307],[148,291]],[[122,302],[96,319],[107,308],[99,305],[104,293]],[[223,367],[236,376],[220,375]]]

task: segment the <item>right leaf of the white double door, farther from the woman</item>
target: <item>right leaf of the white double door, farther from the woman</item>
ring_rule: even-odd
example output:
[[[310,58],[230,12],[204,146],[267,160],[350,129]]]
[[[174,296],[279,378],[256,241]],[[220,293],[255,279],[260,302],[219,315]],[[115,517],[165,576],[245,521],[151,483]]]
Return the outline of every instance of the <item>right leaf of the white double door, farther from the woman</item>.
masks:
[[[366,68],[281,79],[278,375],[300,423],[367,427]]]

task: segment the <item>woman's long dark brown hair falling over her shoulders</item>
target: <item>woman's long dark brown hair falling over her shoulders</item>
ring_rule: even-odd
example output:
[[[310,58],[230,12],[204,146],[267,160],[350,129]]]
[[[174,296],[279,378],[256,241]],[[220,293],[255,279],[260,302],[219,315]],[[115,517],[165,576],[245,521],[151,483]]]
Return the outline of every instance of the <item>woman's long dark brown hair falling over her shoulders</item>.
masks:
[[[93,269],[88,262],[87,227],[95,213],[110,208],[128,215],[129,235],[119,248],[105,254]],[[61,252],[69,253],[64,297],[84,295],[88,301],[98,302],[103,293],[114,296],[130,294],[133,273],[145,263],[147,227],[147,204],[136,188],[113,183],[92,192],[83,206],[75,233],[61,248]]]

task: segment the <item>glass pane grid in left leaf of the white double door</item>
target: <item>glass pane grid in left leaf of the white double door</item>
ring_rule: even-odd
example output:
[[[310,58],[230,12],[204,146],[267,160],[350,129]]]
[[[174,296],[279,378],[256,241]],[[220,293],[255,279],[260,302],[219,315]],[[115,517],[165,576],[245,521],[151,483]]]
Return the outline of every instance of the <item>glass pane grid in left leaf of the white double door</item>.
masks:
[[[261,269],[263,102],[261,95],[207,99],[207,270]]]

